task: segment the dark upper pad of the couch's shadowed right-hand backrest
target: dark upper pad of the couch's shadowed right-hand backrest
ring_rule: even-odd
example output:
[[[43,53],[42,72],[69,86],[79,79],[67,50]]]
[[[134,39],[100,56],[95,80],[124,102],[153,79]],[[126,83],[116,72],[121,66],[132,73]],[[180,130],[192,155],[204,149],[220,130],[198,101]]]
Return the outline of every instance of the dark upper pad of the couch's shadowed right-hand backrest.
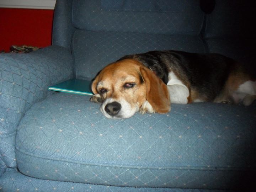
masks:
[[[215,0],[207,15],[206,38],[255,37],[256,2],[251,0]]]

